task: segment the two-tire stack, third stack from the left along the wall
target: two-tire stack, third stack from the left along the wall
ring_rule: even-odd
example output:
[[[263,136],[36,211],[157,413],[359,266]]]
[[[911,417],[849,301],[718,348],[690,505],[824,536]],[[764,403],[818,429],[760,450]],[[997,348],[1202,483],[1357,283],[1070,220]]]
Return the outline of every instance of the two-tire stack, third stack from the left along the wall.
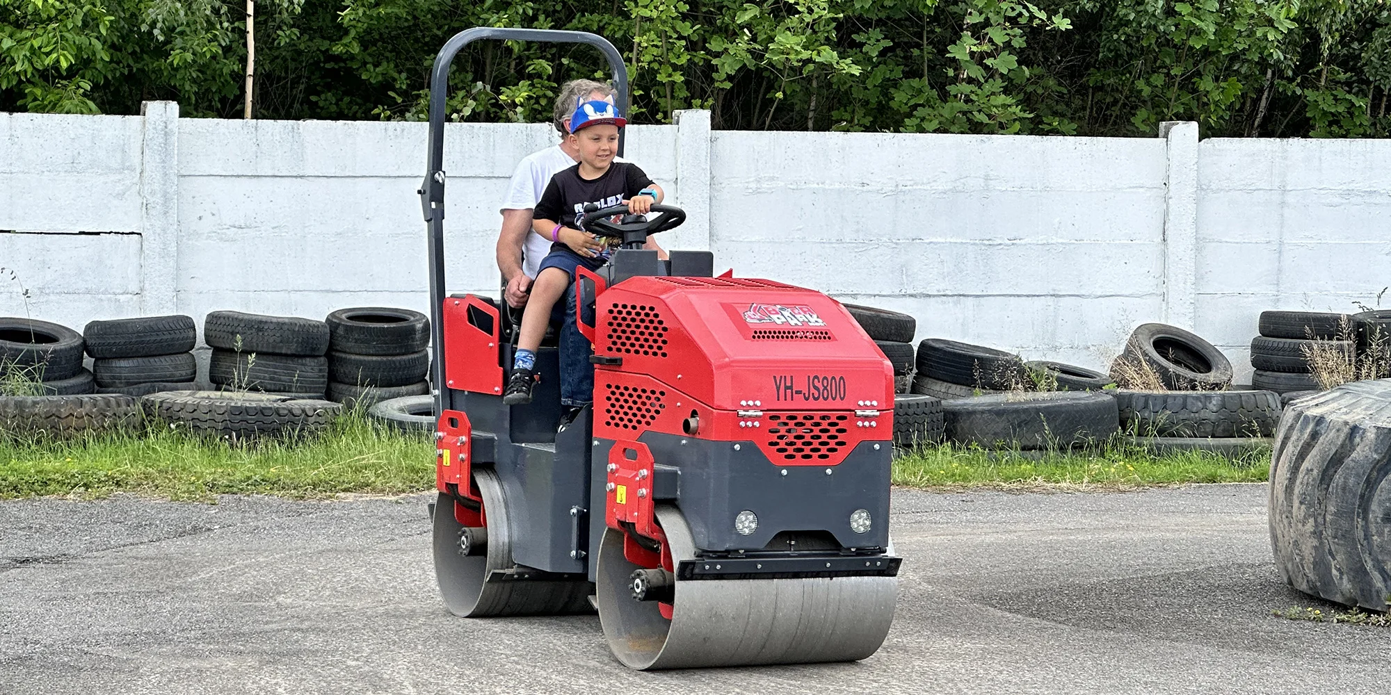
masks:
[[[207,378],[223,391],[321,400],[328,386],[328,325],[312,318],[213,311]]]

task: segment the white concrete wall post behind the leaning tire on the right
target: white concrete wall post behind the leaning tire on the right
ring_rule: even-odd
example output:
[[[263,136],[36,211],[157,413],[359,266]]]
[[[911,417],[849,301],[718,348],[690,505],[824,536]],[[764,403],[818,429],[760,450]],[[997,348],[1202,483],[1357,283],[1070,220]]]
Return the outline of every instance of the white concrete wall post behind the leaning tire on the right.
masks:
[[[1198,124],[1166,121],[1164,322],[1193,328],[1198,313]]]

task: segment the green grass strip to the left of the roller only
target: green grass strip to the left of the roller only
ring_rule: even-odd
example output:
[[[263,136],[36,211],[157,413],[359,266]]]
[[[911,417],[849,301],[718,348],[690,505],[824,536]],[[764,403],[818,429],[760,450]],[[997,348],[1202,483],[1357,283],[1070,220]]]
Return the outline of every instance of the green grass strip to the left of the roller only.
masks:
[[[399,495],[434,485],[433,453],[427,435],[377,427],[356,414],[299,441],[241,445],[170,430],[72,441],[0,438],[0,499]]]

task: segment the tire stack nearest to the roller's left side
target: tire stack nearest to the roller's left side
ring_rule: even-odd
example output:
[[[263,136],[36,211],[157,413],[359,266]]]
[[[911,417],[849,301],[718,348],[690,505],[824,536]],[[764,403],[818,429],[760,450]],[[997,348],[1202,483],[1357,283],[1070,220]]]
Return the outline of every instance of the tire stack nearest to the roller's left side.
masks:
[[[328,327],[328,400],[370,407],[430,393],[430,320],[388,307],[339,309]]]

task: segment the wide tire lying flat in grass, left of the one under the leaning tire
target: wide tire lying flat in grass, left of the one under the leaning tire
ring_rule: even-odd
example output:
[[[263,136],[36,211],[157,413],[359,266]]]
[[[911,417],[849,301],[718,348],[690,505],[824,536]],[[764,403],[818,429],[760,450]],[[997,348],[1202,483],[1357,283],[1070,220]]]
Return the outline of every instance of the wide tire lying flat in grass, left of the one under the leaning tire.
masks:
[[[1120,430],[1116,399],[1089,392],[1022,392],[943,400],[947,438],[986,449],[1066,449]]]

